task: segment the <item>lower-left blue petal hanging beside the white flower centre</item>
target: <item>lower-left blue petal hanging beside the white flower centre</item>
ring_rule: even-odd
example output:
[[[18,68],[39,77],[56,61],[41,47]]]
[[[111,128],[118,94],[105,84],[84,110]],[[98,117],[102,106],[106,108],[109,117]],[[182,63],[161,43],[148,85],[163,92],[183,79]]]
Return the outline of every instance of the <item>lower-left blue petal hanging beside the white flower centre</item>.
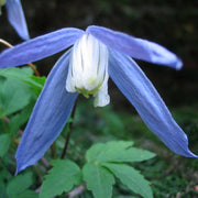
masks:
[[[16,173],[35,164],[62,132],[77,94],[66,91],[69,54],[64,54],[52,69],[40,95],[16,152]]]

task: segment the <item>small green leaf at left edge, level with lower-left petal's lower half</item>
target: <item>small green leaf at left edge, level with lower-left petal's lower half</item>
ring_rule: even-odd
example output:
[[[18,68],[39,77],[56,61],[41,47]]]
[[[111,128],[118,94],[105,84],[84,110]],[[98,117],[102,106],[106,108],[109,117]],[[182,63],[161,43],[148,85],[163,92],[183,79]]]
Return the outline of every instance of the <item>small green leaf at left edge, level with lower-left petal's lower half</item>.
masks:
[[[0,135],[0,157],[3,157],[7,154],[11,143],[11,136],[9,134]]]

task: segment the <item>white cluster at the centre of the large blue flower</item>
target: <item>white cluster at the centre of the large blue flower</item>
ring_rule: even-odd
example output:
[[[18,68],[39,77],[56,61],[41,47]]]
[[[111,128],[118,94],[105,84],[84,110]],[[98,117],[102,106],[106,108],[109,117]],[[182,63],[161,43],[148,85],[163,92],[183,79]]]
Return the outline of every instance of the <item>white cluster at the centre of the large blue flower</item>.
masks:
[[[95,107],[110,102],[108,95],[108,48],[92,35],[85,33],[73,47],[66,89],[85,97],[95,97]]]

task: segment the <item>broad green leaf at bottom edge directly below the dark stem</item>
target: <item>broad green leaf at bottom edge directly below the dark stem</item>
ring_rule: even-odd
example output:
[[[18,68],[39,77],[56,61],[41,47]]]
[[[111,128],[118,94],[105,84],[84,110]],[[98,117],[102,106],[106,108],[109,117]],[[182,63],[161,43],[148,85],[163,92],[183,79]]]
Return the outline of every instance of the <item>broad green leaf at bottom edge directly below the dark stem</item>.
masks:
[[[81,180],[79,167],[68,160],[56,160],[51,163],[54,167],[45,176],[41,188],[41,198],[48,198],[69,191]]]

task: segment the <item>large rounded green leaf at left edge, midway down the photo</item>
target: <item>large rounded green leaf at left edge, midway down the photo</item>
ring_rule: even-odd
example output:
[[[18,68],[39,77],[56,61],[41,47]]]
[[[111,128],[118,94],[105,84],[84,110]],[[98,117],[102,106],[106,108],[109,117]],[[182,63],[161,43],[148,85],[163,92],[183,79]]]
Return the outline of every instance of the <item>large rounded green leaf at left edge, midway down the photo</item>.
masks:
[[[29,87],[15,80],[7,79],[0,87],[0,118],[10,116],[28,106],[32,92]]]

